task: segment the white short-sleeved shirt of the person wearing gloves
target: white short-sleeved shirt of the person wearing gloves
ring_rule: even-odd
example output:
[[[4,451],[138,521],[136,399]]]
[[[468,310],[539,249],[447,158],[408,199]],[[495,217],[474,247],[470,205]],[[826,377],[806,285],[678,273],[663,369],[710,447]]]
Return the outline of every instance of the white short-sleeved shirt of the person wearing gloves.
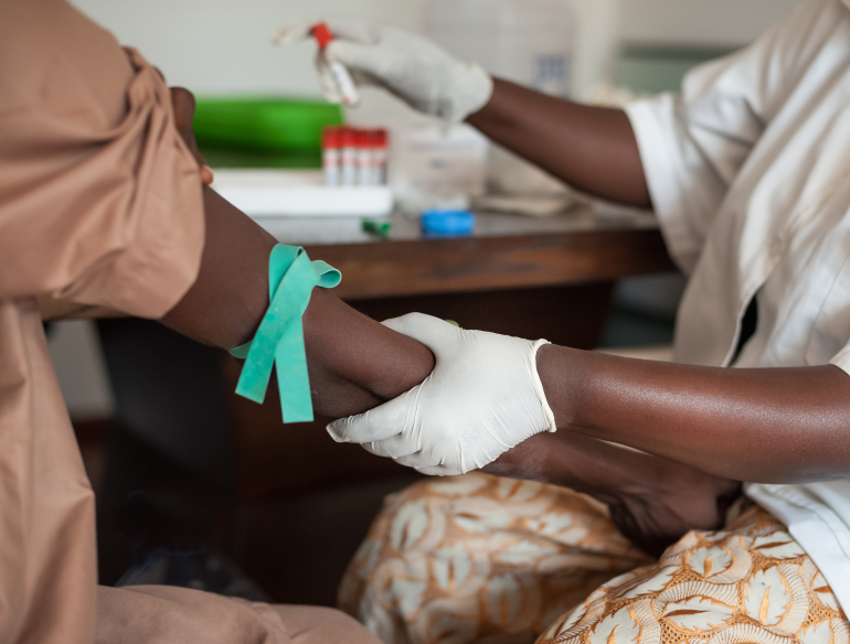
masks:
[[[850,0],[848,0],[850,2]],[[628,108],[662,233],[690,273],[676,359],[850,373],[850,9],[817,0],[684,96]],[[850,481],[748,485],[850,610]],[[814,527],[812,527],[814,526]]]

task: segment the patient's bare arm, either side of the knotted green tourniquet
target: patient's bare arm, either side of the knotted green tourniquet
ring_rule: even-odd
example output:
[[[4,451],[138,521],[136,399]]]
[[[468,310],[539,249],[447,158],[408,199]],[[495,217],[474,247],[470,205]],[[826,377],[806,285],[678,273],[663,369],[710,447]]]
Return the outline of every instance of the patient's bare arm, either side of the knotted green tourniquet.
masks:
[[[199,342],[233,348],[256,333],[268,308],[268,258],[277,243],[204,189],[206,242],[195,283],[162,322]],[[316,289],[304,316],[316,411],[348,416],[419,384],[431,351]]]

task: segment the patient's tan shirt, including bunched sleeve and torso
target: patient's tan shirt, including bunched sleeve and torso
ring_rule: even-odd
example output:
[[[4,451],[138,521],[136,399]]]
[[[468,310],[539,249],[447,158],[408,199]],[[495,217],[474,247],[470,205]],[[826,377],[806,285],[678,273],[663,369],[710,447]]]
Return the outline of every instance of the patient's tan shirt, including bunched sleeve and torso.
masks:
[[[89,643],[94,497],[41,293],[164,314],[203,247],[168,87],[60,0],[0,0],[0,642]]]

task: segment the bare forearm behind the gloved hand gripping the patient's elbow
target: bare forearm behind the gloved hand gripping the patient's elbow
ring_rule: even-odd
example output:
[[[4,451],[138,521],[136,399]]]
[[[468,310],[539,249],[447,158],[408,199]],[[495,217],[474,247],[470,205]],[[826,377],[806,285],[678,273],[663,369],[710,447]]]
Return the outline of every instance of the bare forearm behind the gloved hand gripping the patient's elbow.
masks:
[[[850,378],[833,366],[732,369],[543,347],[559,428],[763,483],[850,476]]]

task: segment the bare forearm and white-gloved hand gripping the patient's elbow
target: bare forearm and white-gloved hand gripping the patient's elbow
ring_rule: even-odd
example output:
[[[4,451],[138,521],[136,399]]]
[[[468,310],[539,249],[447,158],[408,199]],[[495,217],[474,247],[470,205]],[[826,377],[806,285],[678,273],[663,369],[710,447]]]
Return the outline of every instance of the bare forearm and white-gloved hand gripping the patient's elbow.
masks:
[[[394,328],[410,332],[402,324]],[[435,455],[448,442],[477,450],[477,458],[465,461],[461,471],[484,466],[501,453],[482,432],[492,422],[490,416],[506,419],[511,437],[545,429],[542,416],[529,412],[533,406],[523,394],[533,390],[533,369],[488,359],[487,352],[476,351],[476,333],[459,341],[417,336],[437,356],[421,391],[427,387],[439,391],[439,398],[405,394],[390,404],[394,418],[386,418],[390,406],[384,406],[338,421],[331,426],[338,437],[384,441],[368,449],[397,457],[383,447],[391,444],[386,428],[394,421],[418,448],[400,462],[438,472],[432,469],[444,463]],[[541,347],[535,367],[545,393],[539,407],[551,405],[559,431],[628,446],[737,481],[803,483],[850,476],[850,378],[837,367],[698,367],[560,346]],[[488,397],[488,388],[493,396]],[[503,446],[502,452],[513,447],[510,441]]]

